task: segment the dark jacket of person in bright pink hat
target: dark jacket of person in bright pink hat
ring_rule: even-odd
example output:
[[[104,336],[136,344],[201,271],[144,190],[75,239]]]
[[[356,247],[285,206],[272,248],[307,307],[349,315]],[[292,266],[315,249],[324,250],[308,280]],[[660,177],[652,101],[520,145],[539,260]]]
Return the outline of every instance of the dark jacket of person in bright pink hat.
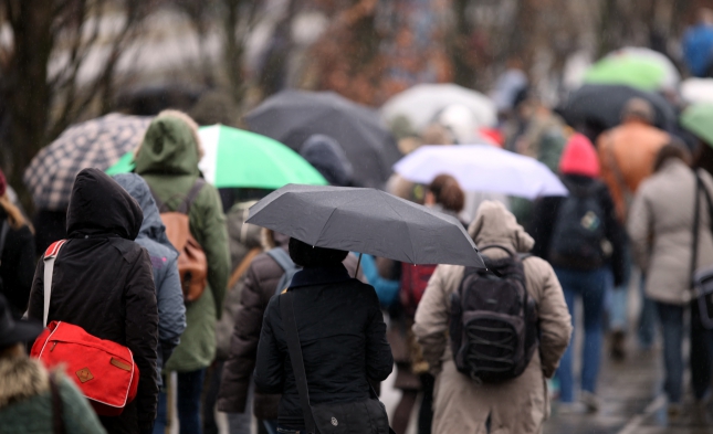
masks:
[[[608,263],[614,272],[615,285],[623,283],[627,271],[625,269],[623,250],[626,248],[626,232],[617,219],[614,200],[604,182],[594,178],[567,174],[562,178],[568,189],[590,189],[599,201],[605,213],[605,235],[611,244],[611,256]],[[532,254],[549,261],[549,246],[559,208],[564,203],[563,197],[545,197],[535,202],[531,226],[527,232],[535,240]]]

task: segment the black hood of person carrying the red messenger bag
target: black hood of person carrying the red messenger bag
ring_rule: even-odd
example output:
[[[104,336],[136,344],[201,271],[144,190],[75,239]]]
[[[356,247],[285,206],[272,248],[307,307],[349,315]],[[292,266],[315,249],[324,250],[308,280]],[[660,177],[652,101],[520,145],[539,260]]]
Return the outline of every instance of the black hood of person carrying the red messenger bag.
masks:
[[[76,176],[66,211],[70,237],[113,234],[133,241],[143,221],[141,208],[109,176],[98,169]]]

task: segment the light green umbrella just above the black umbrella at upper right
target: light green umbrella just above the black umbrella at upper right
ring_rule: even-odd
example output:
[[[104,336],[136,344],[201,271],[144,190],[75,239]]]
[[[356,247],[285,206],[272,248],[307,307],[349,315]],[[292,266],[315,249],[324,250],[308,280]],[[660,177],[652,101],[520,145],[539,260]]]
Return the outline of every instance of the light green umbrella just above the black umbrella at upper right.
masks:
[[[623,84],[642,91],[657,91],[667,81],[667,71],[643,56],[606,56],[585,73],[585,83]]]

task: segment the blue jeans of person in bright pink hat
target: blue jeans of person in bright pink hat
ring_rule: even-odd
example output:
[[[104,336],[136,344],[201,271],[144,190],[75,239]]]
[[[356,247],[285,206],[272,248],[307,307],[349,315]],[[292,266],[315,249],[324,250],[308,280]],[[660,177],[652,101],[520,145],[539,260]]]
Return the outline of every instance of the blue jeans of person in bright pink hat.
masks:
[[[608,268],[599,268],[591,272],[579,272],[569,268],[555,267],[555,273],[565,293],[567,308],[572,316],[572,325],[575,327],[575,300],[581,297],[584,305],[584,328],[585,342],[583,350],[581,367],[581,390],[595,393],[597,377],[599,375],[599,362],[601,357],[602,313],[607,290],[607,276],[611,273]],[[573,348],[574,332],[569,347],[559,361],[557,378],[559,379],[559,400],[562,402],[574,401],[574,375],[573,375]]]

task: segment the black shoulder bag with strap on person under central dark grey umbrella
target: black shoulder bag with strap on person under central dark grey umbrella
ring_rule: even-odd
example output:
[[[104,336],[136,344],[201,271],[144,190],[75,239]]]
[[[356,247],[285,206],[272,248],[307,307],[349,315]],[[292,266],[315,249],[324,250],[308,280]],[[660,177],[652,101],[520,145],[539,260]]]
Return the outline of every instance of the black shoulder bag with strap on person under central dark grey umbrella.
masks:
[[[302,358],[302,345],[294,315],[294,293],[286,292],[280,296],[283,328],[290,350],[292,370],[295,374],[300,404],[304,414],[305,428],[308,434],[395,434],[389,427],[386,407],[379,401],[374,388],[369,387],[370,398],[355,402],[310,403],[307,375]]]

